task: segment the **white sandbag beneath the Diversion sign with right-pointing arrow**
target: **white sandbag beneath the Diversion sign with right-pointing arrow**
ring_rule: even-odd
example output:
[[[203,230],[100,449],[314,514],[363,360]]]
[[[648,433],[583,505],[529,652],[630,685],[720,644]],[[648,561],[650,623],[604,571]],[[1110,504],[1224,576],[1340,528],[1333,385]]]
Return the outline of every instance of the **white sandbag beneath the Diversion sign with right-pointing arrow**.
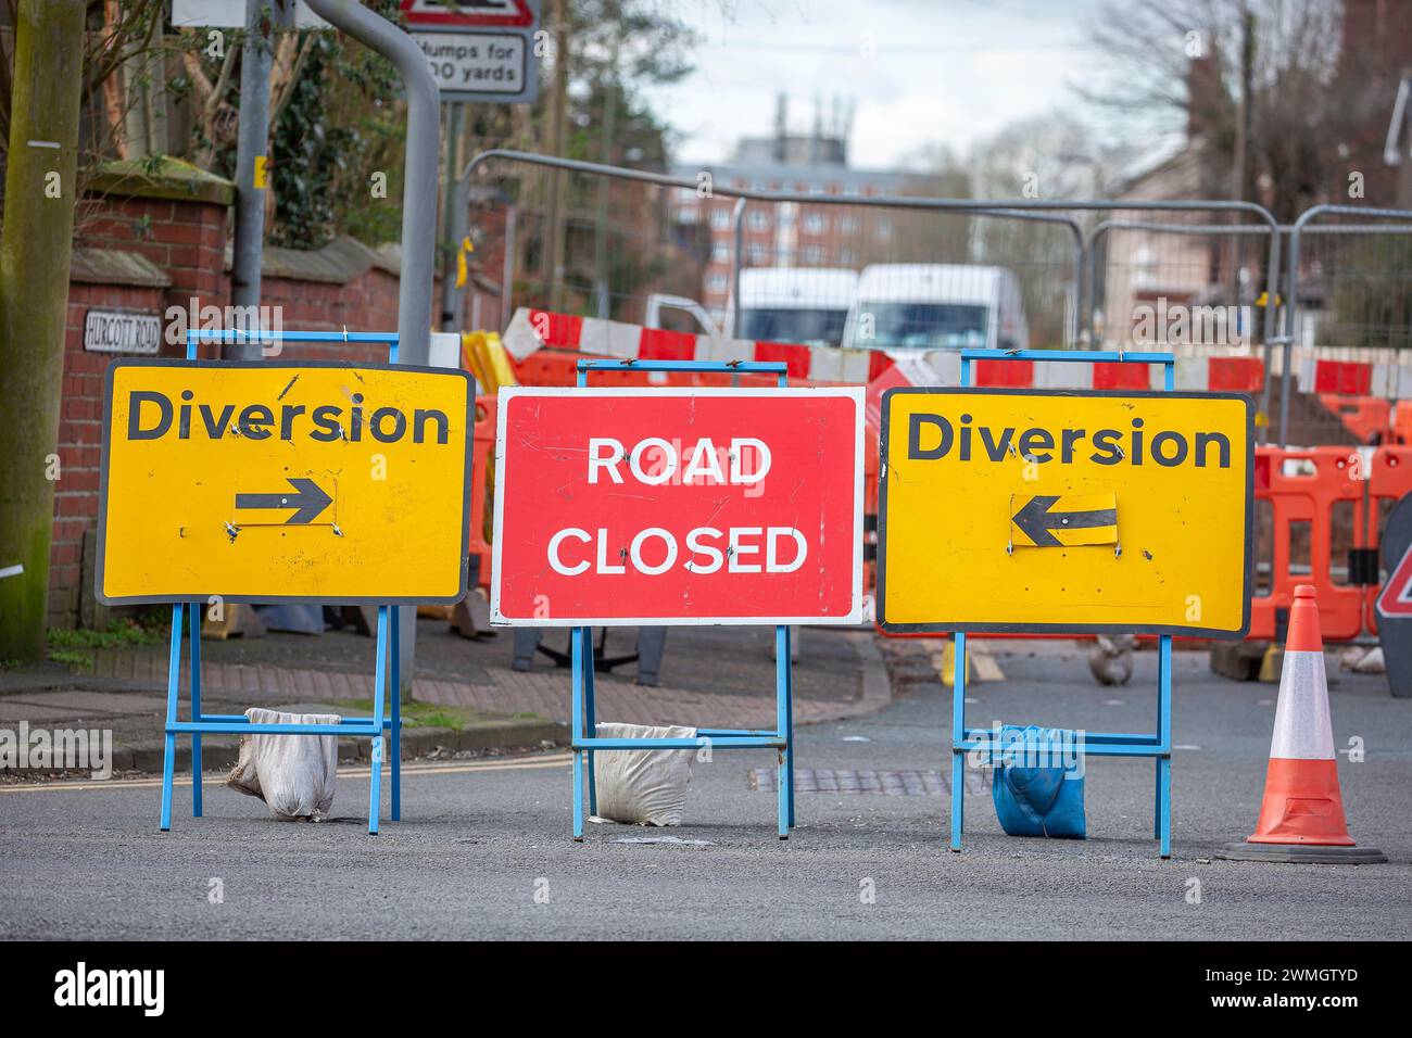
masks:
[[[281,713],[251,706],[251,724],[337,724],[336,713]],[[282,821],[328,818],[339,770],[337,736],[240,737],[240,758],[226,778],[232,789],[258,797]]]

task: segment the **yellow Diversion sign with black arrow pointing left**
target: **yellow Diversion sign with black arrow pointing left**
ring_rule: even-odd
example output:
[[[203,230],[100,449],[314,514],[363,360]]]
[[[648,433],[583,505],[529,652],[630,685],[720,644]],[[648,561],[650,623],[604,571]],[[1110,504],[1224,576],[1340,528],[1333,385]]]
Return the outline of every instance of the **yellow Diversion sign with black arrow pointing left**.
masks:
[[[880,624],[1244,636],[1251,431],[1236,394],[888,391]]]

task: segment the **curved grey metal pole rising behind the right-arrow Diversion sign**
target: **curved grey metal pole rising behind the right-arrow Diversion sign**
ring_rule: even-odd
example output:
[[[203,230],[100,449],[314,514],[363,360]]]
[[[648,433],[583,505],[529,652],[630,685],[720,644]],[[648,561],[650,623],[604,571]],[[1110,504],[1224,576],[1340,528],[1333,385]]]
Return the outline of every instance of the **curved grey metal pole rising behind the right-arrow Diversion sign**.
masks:
[[[431,359],[432,270],[436,260],[436,158],[441,145],[441,95],[426,55],[412,38],[354,0],[305,0],[315,14],[370,47],[397,66],[407,93],[407,167],[402,177],[402,273],[397,292],[398,362]],[[400,606],[401,688],[411,699],[417,675],[417,607]]]

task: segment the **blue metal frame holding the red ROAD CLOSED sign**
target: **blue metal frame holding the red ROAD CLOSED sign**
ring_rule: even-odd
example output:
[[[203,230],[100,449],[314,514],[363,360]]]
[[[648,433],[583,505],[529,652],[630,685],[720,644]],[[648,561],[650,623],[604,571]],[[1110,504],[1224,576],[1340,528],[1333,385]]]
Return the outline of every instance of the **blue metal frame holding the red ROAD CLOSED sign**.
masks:
[[[580,360],[578,388],[586,388],[590,371],[685,371],[710,374],[774,374],[779,387],[789,386],[788,367],[781,362],[738,360]],[[775,627],[775,729],[696,729],[695,739],[599,739],[593,712],[593,631],[572,628],[573,674],[573,839],[583,842],[585,764],[587,764],[589,813],[597,813],[593,754],[611,750],[777,750],[778,829],[788,840],[795,823],[794,795],[794,671],[789,664],[789,627]]]

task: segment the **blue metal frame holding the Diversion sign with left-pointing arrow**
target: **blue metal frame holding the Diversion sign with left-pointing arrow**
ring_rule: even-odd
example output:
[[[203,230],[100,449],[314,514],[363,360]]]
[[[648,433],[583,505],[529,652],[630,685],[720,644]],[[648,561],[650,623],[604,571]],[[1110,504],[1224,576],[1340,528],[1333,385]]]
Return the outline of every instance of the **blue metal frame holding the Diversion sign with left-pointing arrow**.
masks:
[[[962,386],[971,388],[973,360],[1066,360],[1075,363],[1111,362],[1120,364],[1162,364],[1162,388],[1176,387],[1172,353],[1127,353],[1118,350],[962,350]],[[955,679],[952,684],[952,850],[960,853],[962,825],[966,818],[966,754],[976,750],[994,761],[1005,746],[993,730],[966,727],[966,633],[956,631]],[[1089,732],[1083,751],[1093,757],[1154,757],[1156,788],[1152,808],[1152,839],[1159,842],[1163,859],[1172,857],[1172,636],[1158,640],[1156,662],[1156,732]]]

